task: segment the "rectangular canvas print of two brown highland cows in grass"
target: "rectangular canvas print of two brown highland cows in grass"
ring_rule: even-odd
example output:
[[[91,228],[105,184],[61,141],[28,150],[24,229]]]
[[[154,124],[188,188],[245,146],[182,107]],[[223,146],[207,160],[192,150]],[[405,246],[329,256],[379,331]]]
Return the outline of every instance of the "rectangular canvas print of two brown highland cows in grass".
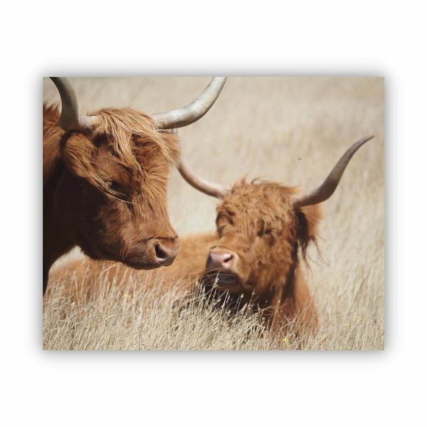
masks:
[[[384,79],[43,78],[43,349],[384,349]]]

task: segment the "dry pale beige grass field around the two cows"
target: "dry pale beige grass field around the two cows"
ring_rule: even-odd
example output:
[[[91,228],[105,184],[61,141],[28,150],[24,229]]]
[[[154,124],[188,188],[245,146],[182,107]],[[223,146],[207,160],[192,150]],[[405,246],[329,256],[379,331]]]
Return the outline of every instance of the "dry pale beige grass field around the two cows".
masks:
[[[189,102],[207,81],[73,79],[82,112],[107,106],[167,110]],[[45,99],[56,100],[53,85],[48,80],[43,85]],[[208,179],[233,183],[248,174],[305,189],[324,178],[349,144],[376,135],[356,154],[336,194],[324,204],[324,259],[310,251],[307,275],[320,313],[317,334],[274,339],[257,315],[243,313],[230,321],[197,299],[176,310],[174,301],[181,295],[176,290],[159,295],[158,279],[154,286],[129,283],[125,296],[112,288],[83,306],[62,297],[65,284],[58,283],[44,307],[43,347],[383,349],[383,91],[379,78],[230,78],[212,110],[180,132],[184,156]],[[169,214],[180,235],[214,229],[215,206],[215,199],[172,173]]]

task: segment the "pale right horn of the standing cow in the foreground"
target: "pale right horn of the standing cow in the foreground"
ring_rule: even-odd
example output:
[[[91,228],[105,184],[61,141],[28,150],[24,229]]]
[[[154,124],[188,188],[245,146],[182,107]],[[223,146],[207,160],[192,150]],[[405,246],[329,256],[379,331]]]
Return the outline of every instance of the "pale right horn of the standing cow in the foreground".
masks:
[[[154,120],[157,121],[158,128],[172,129],[184,127],[199,120],[214,105],[226,80],[226,77],[214,77],[206,89],[186,107],[168,112],[158,112],[152,115]]]

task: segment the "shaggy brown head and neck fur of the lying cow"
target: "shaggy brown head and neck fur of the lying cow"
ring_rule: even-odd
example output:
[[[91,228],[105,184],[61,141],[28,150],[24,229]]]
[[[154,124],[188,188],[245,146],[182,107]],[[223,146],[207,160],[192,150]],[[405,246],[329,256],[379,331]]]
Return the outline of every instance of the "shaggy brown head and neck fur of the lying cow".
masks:
[[[211,249],[233,253],[231,269],[206,269],[206,288],[238,295],[239,305],[263,310],[278,330],[295,317],[312,330],[317,315],[299,265],[316,241],[319,206],[294,209],[296,189],[280,184],[241,182],[217,207],[218,240]]]

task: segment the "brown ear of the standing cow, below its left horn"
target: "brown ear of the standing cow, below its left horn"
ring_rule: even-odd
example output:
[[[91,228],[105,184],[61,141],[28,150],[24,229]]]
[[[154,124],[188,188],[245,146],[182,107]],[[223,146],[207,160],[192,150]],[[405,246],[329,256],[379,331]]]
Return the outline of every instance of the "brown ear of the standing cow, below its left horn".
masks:
[[[90,179],[93,176],[93,157],[96,147],[81,132],[65,134],[60,143],[61,157],[68,169],[80,178]]]

